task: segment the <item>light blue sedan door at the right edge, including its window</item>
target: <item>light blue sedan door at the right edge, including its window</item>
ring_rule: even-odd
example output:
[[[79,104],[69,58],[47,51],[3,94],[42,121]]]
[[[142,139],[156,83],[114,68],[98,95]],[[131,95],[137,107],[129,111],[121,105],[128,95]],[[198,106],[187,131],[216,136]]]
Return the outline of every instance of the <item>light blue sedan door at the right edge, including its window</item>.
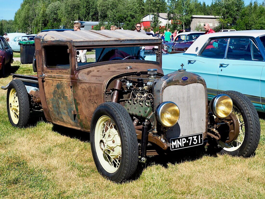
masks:
[[[241,92],[261,108],[260,76],[264,64],[254,38],[230,38],[226,58],[218,67],[218,92]]]

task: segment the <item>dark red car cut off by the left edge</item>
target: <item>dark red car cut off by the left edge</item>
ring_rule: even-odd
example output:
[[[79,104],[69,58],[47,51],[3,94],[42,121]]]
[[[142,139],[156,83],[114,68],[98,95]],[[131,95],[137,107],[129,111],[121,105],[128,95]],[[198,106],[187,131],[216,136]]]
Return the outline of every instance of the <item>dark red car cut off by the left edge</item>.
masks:
[[[0,36],[0,77],[5,76],[5,71],[13,62],[13,50],[3,36]]]

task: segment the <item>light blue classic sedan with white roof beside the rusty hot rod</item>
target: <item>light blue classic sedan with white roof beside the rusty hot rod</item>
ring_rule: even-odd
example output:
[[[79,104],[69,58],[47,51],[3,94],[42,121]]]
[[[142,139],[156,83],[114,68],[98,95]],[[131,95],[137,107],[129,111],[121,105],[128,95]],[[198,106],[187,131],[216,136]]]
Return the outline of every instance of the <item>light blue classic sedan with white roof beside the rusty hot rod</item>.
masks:
[[[265,112],[264,46],[265,30],[205,34],[185,53],[163,55],[162,69],[168,74],[183,67],[202,76],[209,100],[224,90],[235,90]]]

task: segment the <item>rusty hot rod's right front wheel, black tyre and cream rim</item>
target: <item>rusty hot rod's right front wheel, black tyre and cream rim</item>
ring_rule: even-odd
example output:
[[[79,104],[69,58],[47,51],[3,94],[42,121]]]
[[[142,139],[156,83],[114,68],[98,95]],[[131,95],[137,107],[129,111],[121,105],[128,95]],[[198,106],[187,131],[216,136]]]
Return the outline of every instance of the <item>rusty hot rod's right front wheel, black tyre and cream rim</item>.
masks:
[[[260,123],[258,113],[251,101],[242,93],[236,91],[222,92],[231,97],[233,101],[233,111],[239,125],[239,135],[230,143],[219,141],[220,153],[249,157],[254,154],[260,137]]]

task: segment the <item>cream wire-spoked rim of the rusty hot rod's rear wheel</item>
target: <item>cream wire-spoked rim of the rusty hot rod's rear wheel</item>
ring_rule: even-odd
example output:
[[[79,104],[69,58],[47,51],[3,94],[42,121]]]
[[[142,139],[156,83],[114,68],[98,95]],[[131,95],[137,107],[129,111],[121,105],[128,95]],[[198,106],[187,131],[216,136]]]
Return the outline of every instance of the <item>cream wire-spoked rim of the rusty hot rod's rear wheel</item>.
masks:
[[[12,88],[9,93],[9,112],[12,121],[14,124],[17,124],[19,120],[19,101],[17,92],[14,88]]]

